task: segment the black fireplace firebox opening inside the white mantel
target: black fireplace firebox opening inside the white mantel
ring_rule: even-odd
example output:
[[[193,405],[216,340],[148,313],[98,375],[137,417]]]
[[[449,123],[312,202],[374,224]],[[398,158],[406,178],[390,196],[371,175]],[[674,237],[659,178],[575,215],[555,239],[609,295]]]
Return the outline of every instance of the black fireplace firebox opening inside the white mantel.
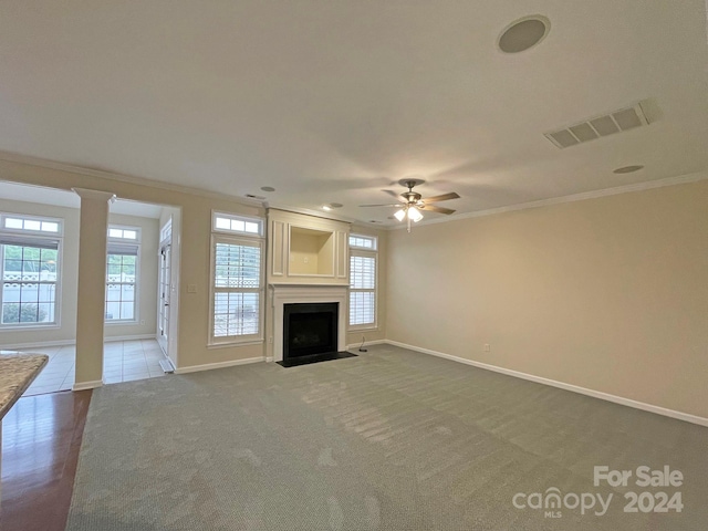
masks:
[[[336,352],[339,304],[300,303],[283,308],[283,360]]]

